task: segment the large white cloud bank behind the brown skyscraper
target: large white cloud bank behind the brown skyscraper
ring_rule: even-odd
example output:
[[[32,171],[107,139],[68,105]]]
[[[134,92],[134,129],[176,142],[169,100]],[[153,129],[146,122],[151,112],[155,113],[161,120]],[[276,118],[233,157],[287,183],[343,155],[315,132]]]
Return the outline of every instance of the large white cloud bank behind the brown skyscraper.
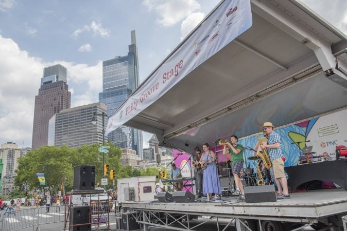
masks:
[[[67,68],[72,106],[98,102],[102,91],[102,62],[95,66],[65,61],[51,63],[29,56],[10,38],[0,35],[0,143],[31,146],[35,96],[44,67],[60,63]],[[19,68],[18,64],[21,67]]]

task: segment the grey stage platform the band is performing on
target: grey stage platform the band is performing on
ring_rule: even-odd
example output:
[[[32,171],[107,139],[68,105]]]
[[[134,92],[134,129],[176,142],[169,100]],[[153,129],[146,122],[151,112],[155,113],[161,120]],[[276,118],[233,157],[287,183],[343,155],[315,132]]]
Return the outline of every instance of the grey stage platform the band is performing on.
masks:
[[[206,198],[197,198],[193,203],[125,202],[122,206],[139,211],[293,222],[316,222],[319,218],[347,214],[347,191],[344,189],[297,192],[291,194],[290,199],[276,202],[246,203],[237,202],[237,199],[233,196],[222,197],[219,202],[206,202]]]

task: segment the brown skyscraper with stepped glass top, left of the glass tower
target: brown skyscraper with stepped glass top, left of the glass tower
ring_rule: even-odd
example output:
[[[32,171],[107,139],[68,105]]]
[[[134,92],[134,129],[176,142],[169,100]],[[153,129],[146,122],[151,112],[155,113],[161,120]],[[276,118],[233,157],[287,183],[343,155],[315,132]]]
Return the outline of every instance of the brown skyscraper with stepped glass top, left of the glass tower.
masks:
[[[60,64],[43,69],[41,87],[35,97],[32,149],[48,144],[48,121],[54,114],[70,108],[71,92],[66,80],[67,70]]]

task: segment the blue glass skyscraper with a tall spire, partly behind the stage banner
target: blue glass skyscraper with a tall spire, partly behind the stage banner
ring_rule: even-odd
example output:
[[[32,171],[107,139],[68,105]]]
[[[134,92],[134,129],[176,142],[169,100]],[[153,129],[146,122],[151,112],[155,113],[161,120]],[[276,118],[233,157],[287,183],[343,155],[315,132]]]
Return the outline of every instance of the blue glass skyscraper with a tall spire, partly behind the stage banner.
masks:
[[[109,117],[138,87],[138,82],[136,36],[133,30],[128,55],[102,62],[102,92],[99,93],[99,102],[107,105]],[[143,158],[142,131],[120,126],[109,133],[108,139],[120,148],[135,150]]]

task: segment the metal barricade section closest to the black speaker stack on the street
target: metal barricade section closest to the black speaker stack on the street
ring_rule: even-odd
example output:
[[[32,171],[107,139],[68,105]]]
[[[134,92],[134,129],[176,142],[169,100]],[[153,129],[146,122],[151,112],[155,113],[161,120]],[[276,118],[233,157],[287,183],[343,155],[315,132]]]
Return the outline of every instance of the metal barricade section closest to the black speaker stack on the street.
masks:
[[[49,210],[48,210],[49,208]],[[37,224],[50,224],[50,223],[57,223],[57,222],[63,222],[65,219],[65,205],[55,205],[55,206],[44,206],[37,209]]]

